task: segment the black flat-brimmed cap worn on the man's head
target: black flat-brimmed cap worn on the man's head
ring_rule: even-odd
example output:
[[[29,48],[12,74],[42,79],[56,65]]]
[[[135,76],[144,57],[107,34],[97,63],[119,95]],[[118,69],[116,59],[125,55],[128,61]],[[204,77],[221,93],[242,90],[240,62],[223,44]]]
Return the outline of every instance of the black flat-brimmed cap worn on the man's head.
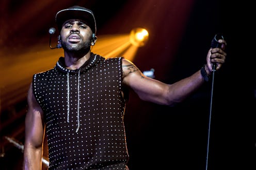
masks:
[[[60,10],[55,16],[59,31],[61,30],[62,24],[71,19],[83,20],[91,28],[92,33],[96,34],[96,21],[91,10],[81,6],[73,6]]]

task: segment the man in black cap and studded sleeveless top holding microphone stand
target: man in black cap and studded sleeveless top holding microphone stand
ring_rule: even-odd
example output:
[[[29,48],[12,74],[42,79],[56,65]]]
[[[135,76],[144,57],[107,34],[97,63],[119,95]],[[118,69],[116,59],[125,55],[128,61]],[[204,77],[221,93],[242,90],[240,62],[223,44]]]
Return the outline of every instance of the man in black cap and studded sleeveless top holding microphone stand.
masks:
[[[33,77],[28,91],[24,169],[40,169],[44,127],[49,169],[128,169],[123,123],[128,89],[142,100],[173,106],[196,91],[225,63],[221,48],[210,48],[206,64],[173,84],[146,77],[124,58],[91,52],[97,41],[93,12],[79,6],[56,14],[64,57]]]

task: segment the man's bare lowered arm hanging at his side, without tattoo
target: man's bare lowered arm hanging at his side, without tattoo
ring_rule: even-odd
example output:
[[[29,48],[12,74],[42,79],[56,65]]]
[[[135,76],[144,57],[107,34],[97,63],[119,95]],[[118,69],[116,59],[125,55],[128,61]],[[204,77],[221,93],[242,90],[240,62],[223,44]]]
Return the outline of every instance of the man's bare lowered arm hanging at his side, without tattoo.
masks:
[[[28,111],[25,118],[24,170],[41,169],[42,143],[44,136],[43,111],[33,95],[30,85],[28,90]]]

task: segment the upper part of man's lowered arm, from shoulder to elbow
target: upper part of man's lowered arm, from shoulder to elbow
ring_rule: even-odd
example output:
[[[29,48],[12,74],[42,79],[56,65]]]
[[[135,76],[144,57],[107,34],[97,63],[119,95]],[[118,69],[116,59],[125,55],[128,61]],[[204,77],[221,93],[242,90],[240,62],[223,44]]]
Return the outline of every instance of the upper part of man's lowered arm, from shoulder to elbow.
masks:
[[[28,90],[27,102],[25,143],[34,147],[41,147],[44,135],[43,111],[34,97],[31,85]]]

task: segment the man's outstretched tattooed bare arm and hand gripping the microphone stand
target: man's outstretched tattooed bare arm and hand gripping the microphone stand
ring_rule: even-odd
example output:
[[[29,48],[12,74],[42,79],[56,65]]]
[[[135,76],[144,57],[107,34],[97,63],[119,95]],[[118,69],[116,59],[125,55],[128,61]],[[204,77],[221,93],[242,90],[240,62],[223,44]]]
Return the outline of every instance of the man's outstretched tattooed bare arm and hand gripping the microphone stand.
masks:
[[[226,45],[226,42],[221,40]],[[212,65],[216,63],[217,70],[225,63],[226,53],[220,48],[210,49],[206,56],[206,65],[204,67],[207,74],[212,73]],[[166,84],[146,77],[130,61],[122,60],[123,83],[132,88],[140,99],[163,105],[172,106],[182,102],[191,93],[196,91],[204,83],[201,71],[198,70],[190,77],[182,79],[173,84]]]

